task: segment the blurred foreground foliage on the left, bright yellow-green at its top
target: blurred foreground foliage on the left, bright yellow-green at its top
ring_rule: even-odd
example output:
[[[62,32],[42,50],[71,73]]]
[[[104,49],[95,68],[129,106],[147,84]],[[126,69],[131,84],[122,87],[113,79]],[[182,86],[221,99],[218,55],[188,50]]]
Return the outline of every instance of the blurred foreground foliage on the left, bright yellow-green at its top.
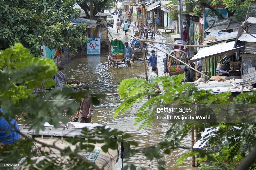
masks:
[[[75,91],[75,90],[51,90],[45,92],[45,98],[35,96],[32,94],[32,88],[40,87],[41,83],[49,87],[54,85],[52,76],[57,73],[57,67],[54,62],[46,58],[35,58],[30,54],[30,50],[18,43],[15,46],[0,51],[0,106],[4,112],[0,113],[0,117],[4,117],[7,121],[14,118],[16,115],[18,119],[24,119],[24,124],[30,124],[31,129],[35,129],[38,134],[39,129],[44,129],[44,123],[47,121],[54,125],[55,128],[59,126],[59,121],[67,123],[67,119],[63,118],[63,112],[72,115],[74,110],[79,108],[78,104],[74,103],[71,96],[77,101],[81,102],[81,98],[86,98],[89,91]],[[16,84],[27,84],[25,86],[17,86]],[[54,100],[46,100],[54,96]],[[91,102],[94,105],[99,104],[98,98],[102,97],[99,94],[91,94]],[[64,109],[64,110],[63,110]],[[65,164],[51,157],[50,160],[42,160],[37,163],[32,160],[36,156],[35,151],[31,151],[33,142],[36,139],[24,138],[20,139],[15,145],[0,146],[0,160],[1,162],[15,162],[18,163],[21,158],[26,158],[24,166],[31,169],[99,169],[94,162],[79,155],[78,152],[91,152],[94,149],[93,143],[104,143],[102,150],[107,152],[108,149],[116,150],[118,145],[116,140],[121,142],[122,138],[115,139],[113,136],[122,135],[123,139],[130,138],[130,135],[124,134],[121,131],[110,130],[105,126],[96,127],[95,129],[84,128],[81,131],[80,138],[71,138],[68,140],[76,149],[72,151],[70,147],[65,149],[58,148],[56,145],[49,145],[49,148],[54,148],[60,151],[60,157],[68,157],[69,164]],[[38,141],[37,141],[38,142]],[[40,141],[39,141],[40,142]],[[127,141],[131,145],[137,145],[134,141]],[[42,143],[42,146],[46,146]],[[42,156],[49,157],[50,153],[41,152]],[[132,165],[130,165],[132,166]],[[34,168],[33,168],[34,167]],[[81,168],[82,167],[82,168]],[[9,167],[13,169],[13,167]]]

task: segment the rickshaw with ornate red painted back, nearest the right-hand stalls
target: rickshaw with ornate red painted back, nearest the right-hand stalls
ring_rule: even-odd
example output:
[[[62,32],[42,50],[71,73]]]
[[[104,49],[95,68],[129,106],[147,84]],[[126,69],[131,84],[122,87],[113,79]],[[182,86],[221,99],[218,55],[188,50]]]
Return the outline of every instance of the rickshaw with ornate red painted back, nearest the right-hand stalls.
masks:
[[[174,44],[187,44],[183,40],[176,40]],[[180,49],[179,49],[180,47]],[[183,46],[173,46],[172,51],[169,53],[172,56],[175,56],[179,60],[183,61],[184,63],[187,63],[187,56],[185,52],[183,51]],[[168,71],[169,75],[177,75],[177,74],[182,74],[184,73],[185,65],[183,63],[180,63],[178,60],[175,60],[171,56],[168,57]]]

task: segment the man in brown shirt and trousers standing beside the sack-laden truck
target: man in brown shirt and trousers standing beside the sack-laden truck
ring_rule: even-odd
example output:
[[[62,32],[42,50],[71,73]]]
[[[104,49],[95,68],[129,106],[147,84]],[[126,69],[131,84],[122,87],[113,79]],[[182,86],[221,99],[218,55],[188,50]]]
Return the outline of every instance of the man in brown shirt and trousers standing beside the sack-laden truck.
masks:
[[[83,87],[83,90],[89,90],[89,87],[86,85]],[[80,123],[91,123],[91,111],[93,111],[92,104],[90,103],[91,97],[92,96],[88,94],[87,98],[82,99],[80,110],[77,111]]]

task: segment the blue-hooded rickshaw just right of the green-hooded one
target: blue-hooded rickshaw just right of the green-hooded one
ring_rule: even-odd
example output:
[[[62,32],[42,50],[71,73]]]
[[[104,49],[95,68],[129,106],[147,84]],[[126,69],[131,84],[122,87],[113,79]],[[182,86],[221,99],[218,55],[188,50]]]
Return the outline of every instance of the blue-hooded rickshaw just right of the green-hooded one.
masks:
[[[140,39],[140,37],[137,37]],[[141,37],[142,38],[142,37]],[[144,38],[142,38],[144,40]],[[145,59],[147,61],[147,58],[149,57],[148,49],[147,49],[147,44],[143,43],[143,48],[145,51]],[[141,42],[138,41],[136,38],[132,40],[132,53],[133,53],[133,62],[136,61],[143,61],[143,54],[142,54],[142,47],[141,47]]]

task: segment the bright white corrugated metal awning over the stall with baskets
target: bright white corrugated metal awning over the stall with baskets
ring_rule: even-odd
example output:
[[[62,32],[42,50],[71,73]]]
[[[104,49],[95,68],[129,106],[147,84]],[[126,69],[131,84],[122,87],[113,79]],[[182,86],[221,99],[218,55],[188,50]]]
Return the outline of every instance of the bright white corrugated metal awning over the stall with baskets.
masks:
[[[200,48],[198,53],[191,60],[198,61],[198,60],[209,58],[211,56],[222,55],[229,51],[236,51],[244,47],[244,46],[240,46],[240,47],[233,48],[234,44],[235,44],[235,41],[231,41],[225,44],[217,44],[211,47]]]

